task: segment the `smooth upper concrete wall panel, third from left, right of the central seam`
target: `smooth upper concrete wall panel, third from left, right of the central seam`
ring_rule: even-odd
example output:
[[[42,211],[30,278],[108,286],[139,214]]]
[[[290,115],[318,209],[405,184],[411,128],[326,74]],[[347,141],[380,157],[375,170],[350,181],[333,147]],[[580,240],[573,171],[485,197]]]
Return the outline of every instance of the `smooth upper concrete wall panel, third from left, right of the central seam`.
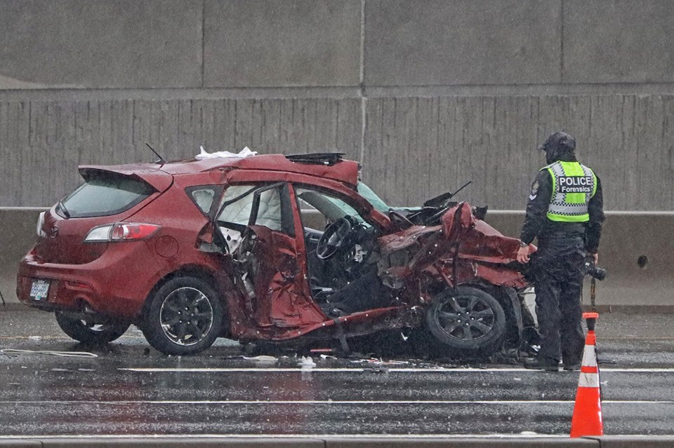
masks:
[[[366,1],[368,86],[560,80],[559,1]]]

